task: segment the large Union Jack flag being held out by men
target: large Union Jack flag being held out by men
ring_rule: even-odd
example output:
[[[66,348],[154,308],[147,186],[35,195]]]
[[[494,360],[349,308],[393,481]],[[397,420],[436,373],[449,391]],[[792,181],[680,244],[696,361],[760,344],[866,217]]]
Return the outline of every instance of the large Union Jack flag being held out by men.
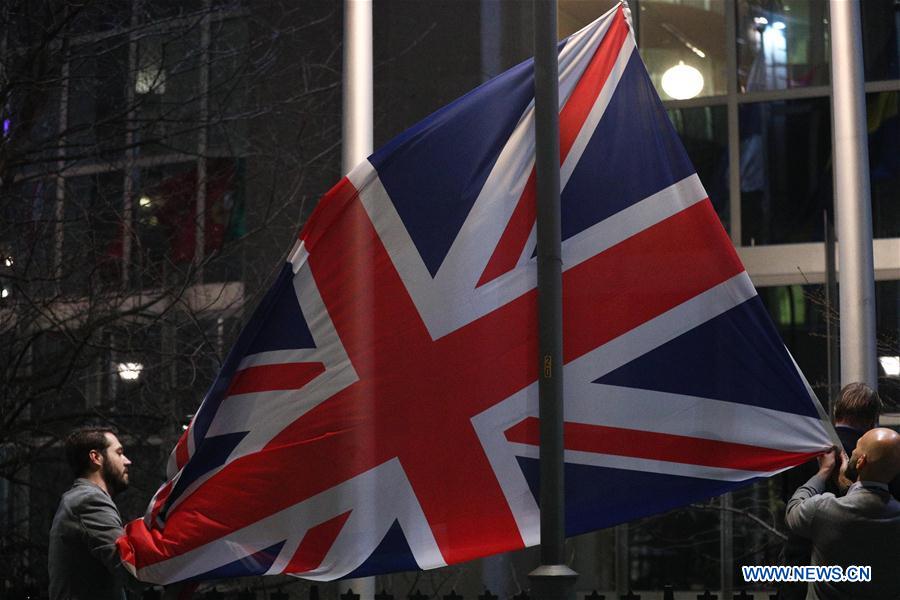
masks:
[[[831,446],[620,6],[560,44],[566,527]],[[430,569],[539,542],[533,63],[320,201],[119,546],[171,583]]]

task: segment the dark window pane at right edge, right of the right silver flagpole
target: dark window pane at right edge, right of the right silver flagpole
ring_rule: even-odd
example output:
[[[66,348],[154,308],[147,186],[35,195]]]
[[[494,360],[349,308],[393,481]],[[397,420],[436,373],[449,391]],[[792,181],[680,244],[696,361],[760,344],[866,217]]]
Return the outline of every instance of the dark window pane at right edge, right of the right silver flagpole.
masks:
[[[869,94],[869,181],[875,237],[900,237],[900,92]]]

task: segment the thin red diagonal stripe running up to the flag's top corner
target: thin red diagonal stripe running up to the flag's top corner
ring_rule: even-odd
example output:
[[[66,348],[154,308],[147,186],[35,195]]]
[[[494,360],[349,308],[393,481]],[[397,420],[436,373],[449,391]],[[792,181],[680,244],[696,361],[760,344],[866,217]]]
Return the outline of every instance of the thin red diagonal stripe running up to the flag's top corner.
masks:
[[[569,150],[575,143],[575,138],[584,126],[584,122],[597,102],[600,90],[606,85],[609,74],[612,72],[622,44],[628,36],[628,25],[619,9],[609,31],[606,32],[600,45],[597,46],[591,62],[588,64],[572,95],[566,101],[562,112],[559,114],[559,155],[560,163],[565,161]],[[513,210],[513,214],[506,224],[503,235],[491,259],[488,261],[476,287],[480,287],[489,281],[493,281],[504,273],[508,273],[516,266],[522,250],[531,234],[531,228],[535,221],[536,207],[535,174],[534,167],[528,176],[522,196]]]

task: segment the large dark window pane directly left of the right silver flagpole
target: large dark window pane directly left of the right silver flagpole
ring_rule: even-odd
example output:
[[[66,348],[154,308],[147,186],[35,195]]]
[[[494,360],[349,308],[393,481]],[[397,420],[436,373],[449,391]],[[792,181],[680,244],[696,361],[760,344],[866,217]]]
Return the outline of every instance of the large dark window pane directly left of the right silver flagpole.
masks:
[[[740,107],[742,244],[822,241],[832,207],[827,98]]]

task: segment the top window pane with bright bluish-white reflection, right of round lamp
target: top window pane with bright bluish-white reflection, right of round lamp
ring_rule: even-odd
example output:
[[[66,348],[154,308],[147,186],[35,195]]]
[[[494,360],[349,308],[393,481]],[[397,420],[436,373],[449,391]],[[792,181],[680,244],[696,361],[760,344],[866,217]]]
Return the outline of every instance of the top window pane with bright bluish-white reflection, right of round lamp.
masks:
[[[740,0],[737,47],[741,91],[827,85],[828,36],[825,0]]]

